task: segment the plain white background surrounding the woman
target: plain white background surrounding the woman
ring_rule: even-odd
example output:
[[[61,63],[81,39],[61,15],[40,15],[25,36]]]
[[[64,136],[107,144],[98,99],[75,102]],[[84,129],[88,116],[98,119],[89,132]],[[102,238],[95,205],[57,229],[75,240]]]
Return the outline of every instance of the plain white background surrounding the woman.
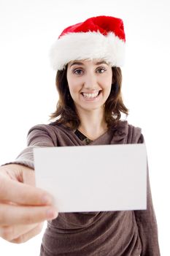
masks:
[[[96,15],[123,18],[123,99],[129,123],[142,127],[147,144],[163,256],[169,255],[170,229],[169,10],[169,0],[0,0],[0,164],[15,159],[28,129],[47,123],[55,110],[48,53],[61,31]],[[39,255],[42,235],[19,245],[0,238],[0,254]]]

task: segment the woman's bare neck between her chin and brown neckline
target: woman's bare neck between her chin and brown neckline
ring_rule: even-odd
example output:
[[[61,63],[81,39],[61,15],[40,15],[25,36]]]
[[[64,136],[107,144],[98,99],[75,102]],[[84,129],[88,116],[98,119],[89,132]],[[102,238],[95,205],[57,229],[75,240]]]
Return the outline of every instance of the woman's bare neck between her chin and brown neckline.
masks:
[[[90,140],[96,140],[107,131],[107,123],[104,120],[103,111],[93,110],[90,113],[82,113],[78,129]]]

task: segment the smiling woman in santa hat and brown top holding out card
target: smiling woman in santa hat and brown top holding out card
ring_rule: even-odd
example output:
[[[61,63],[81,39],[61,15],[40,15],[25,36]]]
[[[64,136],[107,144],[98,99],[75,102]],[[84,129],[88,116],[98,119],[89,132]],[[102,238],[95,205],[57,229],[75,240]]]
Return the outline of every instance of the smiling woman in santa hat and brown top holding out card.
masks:
[[[149,178],[146,211],[58,214],[53,198],[34,187],[34,146],[144,143],[141,129],[120,121],[128,115],[121,97],[124,48],[123,21],[107,16],[69,26],[53,45],[55,120],[31,128],[28,147],[1,167],[0,236],[7,241],[27,241],[47,219],[41,255],[160,255]]]

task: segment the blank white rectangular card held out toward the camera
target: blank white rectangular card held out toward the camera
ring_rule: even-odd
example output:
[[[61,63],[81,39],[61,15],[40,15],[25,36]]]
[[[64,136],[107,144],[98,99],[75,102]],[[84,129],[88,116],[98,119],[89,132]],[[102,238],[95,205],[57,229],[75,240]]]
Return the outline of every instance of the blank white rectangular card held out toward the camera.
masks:
[[[59,212],[146,209],[144,144],[34,148],[34,164]]]

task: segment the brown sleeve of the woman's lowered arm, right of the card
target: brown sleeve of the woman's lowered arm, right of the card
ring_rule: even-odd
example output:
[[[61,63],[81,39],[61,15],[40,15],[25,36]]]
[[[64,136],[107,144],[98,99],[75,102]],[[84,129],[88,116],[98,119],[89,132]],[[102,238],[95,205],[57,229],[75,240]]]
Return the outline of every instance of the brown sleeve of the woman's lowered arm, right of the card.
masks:
[[[143,135],[139,138],[139,143],[144,143]],[[150,190],[150,178],[147,165],[147,210],[134,211],[136,223],[138,225],[139,236],[142,242],[141,256],[160,256],[158,244],[158,227],[155,211],[152,205],[152,195]]]

